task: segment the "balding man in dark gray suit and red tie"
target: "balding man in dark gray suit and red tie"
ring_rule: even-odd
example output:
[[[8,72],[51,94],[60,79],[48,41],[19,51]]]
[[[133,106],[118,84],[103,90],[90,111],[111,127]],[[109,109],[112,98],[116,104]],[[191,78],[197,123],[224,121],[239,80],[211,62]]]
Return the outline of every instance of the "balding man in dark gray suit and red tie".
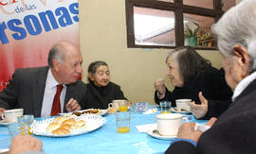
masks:
[[[77,45],[55,43],[48,54],[48,66],[17,69],[0,93],[0,115],[9,109],[24,109],[34,116],[57,115],[81,110],[86,86],[78,79],[82,54]]]

